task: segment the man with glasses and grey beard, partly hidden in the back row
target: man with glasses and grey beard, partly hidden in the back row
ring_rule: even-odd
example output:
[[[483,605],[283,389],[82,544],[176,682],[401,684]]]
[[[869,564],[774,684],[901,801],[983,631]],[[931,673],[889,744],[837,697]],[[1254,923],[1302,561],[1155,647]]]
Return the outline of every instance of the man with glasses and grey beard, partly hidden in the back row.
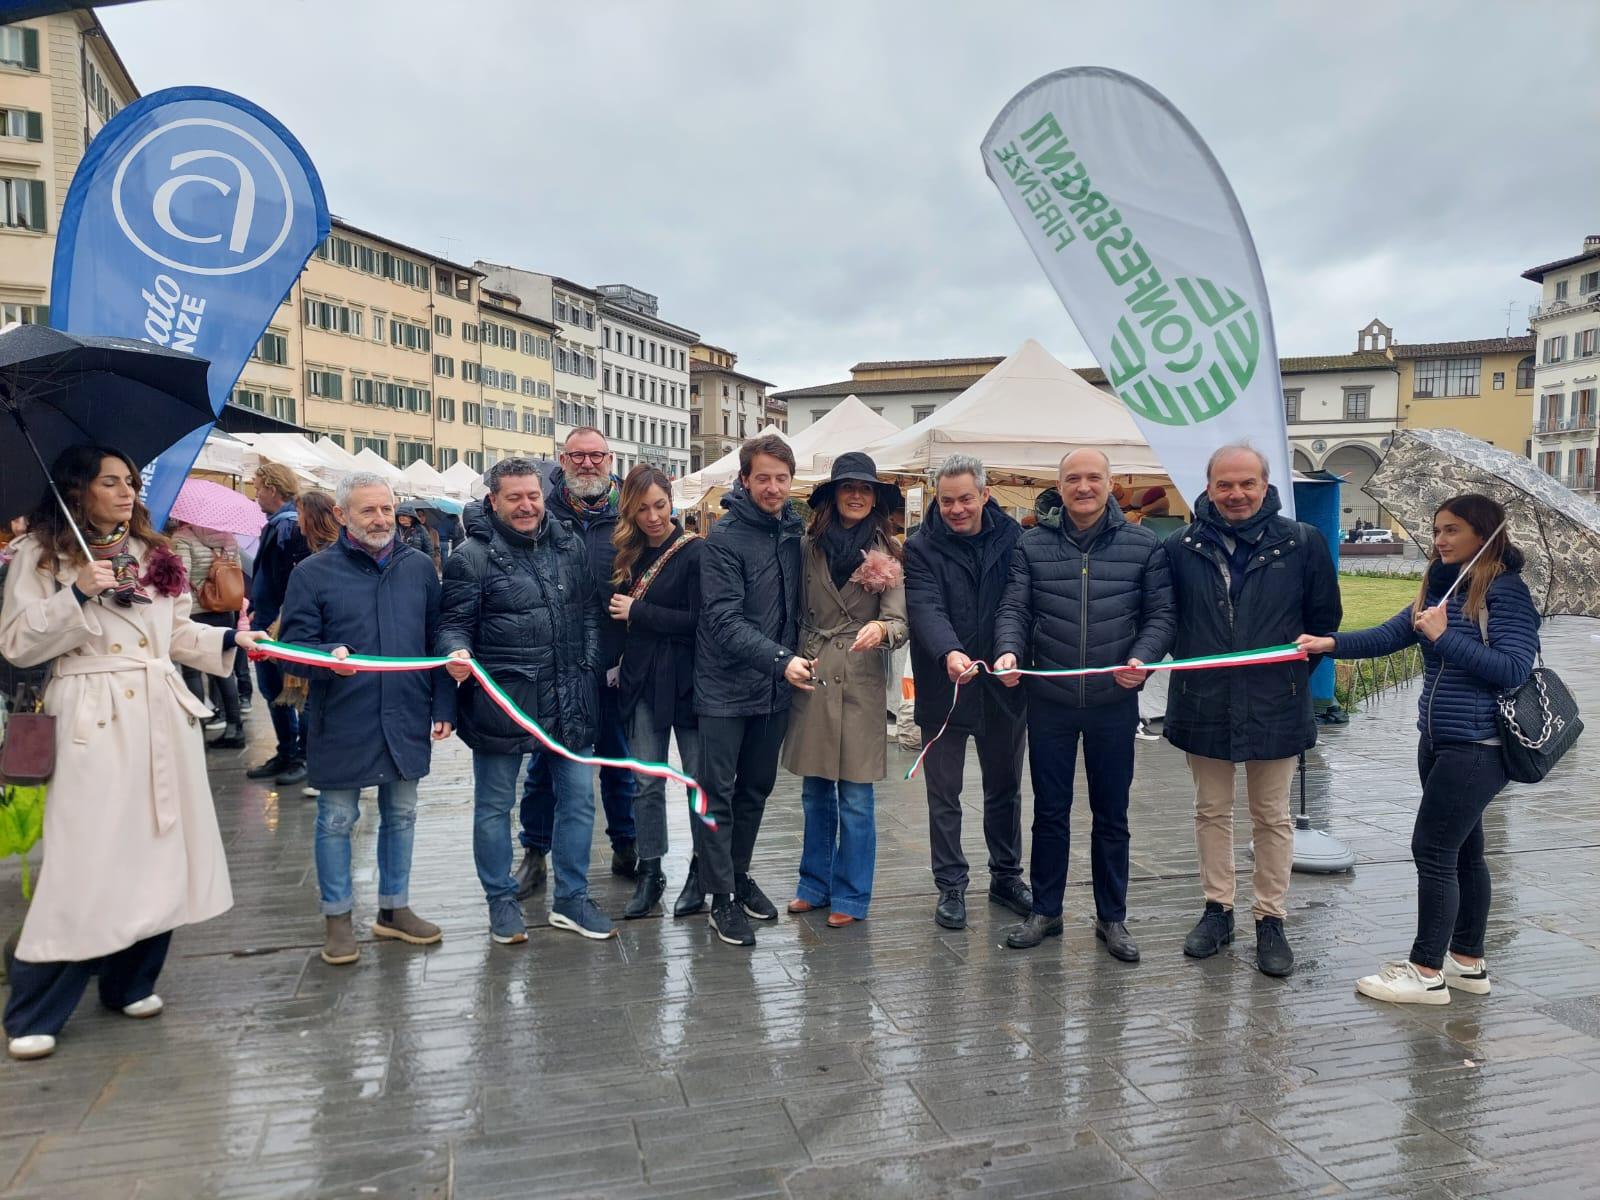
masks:
[[[562,443],[560,466],[550,472],[544,488],[544,510],[576,533],[589,554],[589,573],[594,576],[600,598],[600,677],[595,686],[600,694],[595,754],[605,758],[627,758],[627,726],[618,706],[614,686],[616,666],[622,659],[622,638],[627,627],[610,616],[611,563],[616,546],[611,531],[616,528],[616,502],[619,485],[611,474],[611,446],[594,426],[579,426]],[[611,870],[634,878],[638,872],[638,851],[634,845],[634,797],[638,781],[632,771],[618,766],[600,770],[600,803],[605,808],[605,832],[611,840]],[[528,762],[528,778],[522,789],[522,842],[523,858],[517,867],[517,898],[526,899],[546,880],[544,856],[550,853],[550,834],[555,822],[555,789],[550,784],[550,766],[542,754]]]

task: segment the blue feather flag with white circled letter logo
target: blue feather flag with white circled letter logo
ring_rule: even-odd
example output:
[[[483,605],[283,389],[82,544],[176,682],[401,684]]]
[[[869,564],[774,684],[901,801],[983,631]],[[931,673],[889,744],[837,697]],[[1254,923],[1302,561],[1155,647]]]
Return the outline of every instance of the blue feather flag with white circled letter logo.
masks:
[[[214,88],[157,91],[96,134],[72,178],[51,323],[206,358],[211,411],[221,413],[325,237],[322,181],[270,114]],[[146,467],[157,528],[208,432],[195,430]],[[107,440],[115,443],[114,430]]]

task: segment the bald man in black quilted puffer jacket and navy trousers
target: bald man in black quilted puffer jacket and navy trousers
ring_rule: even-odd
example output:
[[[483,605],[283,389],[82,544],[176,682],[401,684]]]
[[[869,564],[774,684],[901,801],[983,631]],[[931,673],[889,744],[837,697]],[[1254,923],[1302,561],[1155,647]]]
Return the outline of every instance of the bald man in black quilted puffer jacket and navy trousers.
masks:
[[[1128,787],[1144,662],[1173,643],[1173,584],[1162,539],[1110,502],[1110,459],[1074,450],[1061,459],[1059,494],[1040,496],[1038,525],[1022,534],[995,622],[995,672],[1126,669],[1069,680],[1027,680],[1029,773],[1034,779],[1034,912],[1006,934],[1016,950],[1061,934],[1067,883],[1072,776],[1078,738],[1090,782],[1094,936],[1138,962],[1128,934]],[[1016,686],[1016,674],[1002,682]]]

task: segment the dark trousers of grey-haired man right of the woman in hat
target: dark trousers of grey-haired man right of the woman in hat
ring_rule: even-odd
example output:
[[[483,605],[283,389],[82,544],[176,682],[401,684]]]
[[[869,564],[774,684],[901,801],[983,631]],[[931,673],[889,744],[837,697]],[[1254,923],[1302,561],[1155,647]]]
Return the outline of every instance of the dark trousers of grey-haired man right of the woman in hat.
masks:
[[[939,891],[966,891],[966,856],[962,853],[962,781],[966,774],[966,739],[978,746],[978,770],[984,781],[984,845],[989,846],[989,878],[1022,874],[1022,717],[1000,720],[992,714],[979,734],[923,730],[928,754],[922,781],[928,789],[928,843],[933,848],[933,883]]]

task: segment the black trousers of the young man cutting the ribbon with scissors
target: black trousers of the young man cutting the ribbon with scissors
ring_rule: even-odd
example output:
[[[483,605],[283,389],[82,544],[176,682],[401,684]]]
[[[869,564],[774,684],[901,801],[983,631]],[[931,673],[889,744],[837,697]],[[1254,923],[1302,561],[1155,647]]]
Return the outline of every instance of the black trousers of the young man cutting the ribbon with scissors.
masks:
[[[715,829],[701,824],[696,830],[699,882],[712,896],[730,896],[734,877],[750,872],[766,797],[778,781],[778,752],[789,714],[701,717],[699,726],[699,786],[717,821]]]

